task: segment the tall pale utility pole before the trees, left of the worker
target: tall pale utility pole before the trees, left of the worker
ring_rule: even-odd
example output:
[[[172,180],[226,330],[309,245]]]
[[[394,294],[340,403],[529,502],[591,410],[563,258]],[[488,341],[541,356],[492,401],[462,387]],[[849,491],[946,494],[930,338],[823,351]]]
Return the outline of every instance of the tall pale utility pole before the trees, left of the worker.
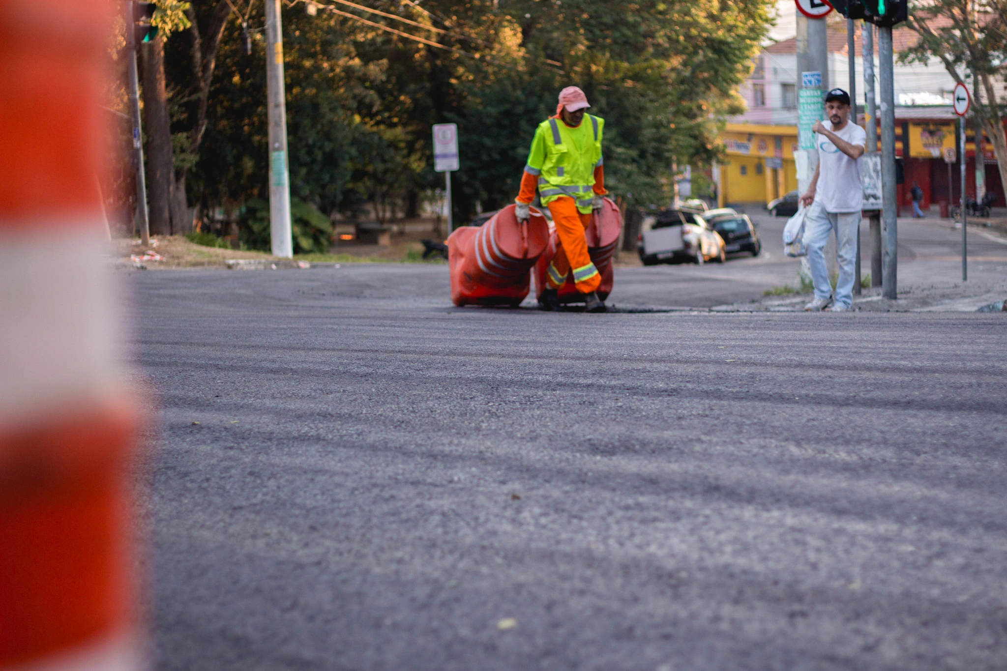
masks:
[[[287,107],[283,83],[283,31],[280,0],[266,0],[266,99],[269,120],[269,221],[274,257],[290,259],[290,170],[287,158]]]

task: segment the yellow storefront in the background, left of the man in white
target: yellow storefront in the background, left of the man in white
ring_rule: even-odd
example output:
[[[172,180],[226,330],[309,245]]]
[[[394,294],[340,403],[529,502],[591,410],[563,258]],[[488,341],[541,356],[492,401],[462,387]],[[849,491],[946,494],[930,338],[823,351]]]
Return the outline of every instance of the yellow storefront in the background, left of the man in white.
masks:
[[[718,206],[767,203],[798,188],[797,126],[727,124],[720,140],[727,160],[720,164]]]

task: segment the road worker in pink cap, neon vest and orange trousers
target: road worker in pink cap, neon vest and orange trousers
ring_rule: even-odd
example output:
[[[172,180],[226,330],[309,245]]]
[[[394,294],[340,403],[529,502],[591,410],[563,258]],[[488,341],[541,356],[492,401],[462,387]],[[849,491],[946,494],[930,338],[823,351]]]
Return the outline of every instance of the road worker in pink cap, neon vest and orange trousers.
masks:
[[[587,97],[577,87],[560,92],[556,116],[539,124],[535,132],[521,193],[515,199],[518,219],[524,221],[530,216],[529,205],[538,187],[542,204],[549,208],[556,224],[556,256],[547,269],[548,286],[540,298],[544,310],[559,308],[559,288],[572,272],[586,311],[605,311],[596,293],[601,275],[587,255],[584,237],[591,211],[601,208],[602,196],[607,193],[601,160],[605,122],[585,114],[589,107]]]

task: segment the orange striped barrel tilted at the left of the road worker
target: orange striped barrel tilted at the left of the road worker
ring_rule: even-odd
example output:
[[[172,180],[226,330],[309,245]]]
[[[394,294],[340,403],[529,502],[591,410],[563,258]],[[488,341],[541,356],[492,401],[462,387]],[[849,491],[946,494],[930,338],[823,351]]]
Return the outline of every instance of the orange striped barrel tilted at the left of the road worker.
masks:
[[[531,270],[549,241],[549,222],[532,208],[518,221],[515,205],[481,226],[463,226],[447,238],[451,301],[518,307],[531,288]]]

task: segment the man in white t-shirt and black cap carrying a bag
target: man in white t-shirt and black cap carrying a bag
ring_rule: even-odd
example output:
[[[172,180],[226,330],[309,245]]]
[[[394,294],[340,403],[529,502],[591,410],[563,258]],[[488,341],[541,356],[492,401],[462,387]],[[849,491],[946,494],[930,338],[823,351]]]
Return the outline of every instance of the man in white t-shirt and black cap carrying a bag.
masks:
[[[831,307],[833,312],[844,312],[853,304],[857,228],[864,195],[857,159],[864,153],[867,134],[856,123],[850,123],[850,95],[842,89],[826,94],[825,112],[829,120],[812,127],[819,164],[808,191],[801,196],[804,205],[811,205],[805,219],[804,241],[815,284],[815,300],[805,310],[817,312]],[[823,253],[833,230],[839,262],[835,299]]]

